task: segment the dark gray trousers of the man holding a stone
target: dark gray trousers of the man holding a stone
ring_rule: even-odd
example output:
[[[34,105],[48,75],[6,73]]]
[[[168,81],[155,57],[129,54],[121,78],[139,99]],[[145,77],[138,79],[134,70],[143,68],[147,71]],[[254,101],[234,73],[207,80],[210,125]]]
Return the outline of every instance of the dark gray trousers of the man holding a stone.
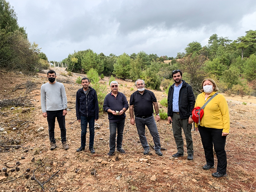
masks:
[[[119,122],[114,122],[114,123],[109,122],[109,132],[110,132],[110,135],[109,135],[109,151],[111,151],[111,152],[115,152],[116,130],[117,130],[116,149],[120,150],[122,148],[124,123],[125,123],[125,119],[123,119]]]

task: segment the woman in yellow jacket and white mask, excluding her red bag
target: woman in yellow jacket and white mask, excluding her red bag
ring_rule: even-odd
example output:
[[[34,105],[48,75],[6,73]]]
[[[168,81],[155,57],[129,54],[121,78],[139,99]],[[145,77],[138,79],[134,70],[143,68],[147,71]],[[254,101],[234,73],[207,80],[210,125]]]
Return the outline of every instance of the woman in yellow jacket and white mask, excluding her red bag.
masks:
[[[204,103],[218,91],[218,87],[212,79],[205,79],[202,82],[201,91],[202,93],[196,98],[195,107],[202,107]],[[218,165],[217,172],[212,173],[212,176],[227,176],[225,144],[230,128],[228,103],[223,95],[218,94],[203,110],[204,115],[200,120],[200,124],[195,123],[195,130],[200,133],[206,159],[206,165],[203,166],[203,169],[209,170],[214,168],[214,145]]]

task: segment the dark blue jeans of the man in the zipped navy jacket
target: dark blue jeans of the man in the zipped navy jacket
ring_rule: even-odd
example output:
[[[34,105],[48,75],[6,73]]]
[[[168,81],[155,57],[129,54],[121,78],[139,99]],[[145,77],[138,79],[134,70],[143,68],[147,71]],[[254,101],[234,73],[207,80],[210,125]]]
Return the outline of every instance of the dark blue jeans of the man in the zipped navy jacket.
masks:
[[[93,144],[94,144],[94,122],[95,122],[95,116],[91,116],[91,117],[81,116],[81,147],[85,147],[88,123],[89,123],[89,131],[90,131],[89,148],[93,147]]]

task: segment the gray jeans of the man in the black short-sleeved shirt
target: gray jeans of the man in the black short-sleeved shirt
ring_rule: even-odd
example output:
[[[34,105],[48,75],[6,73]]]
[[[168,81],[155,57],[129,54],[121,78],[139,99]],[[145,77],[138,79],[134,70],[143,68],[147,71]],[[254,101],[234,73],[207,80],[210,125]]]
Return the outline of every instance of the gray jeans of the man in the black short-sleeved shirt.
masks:
[[[148,144],[147,138],[145,136],[145,125],[147,125],[147,127],[149,129],[149,133],[152,135],[153,141],[155,144],[154,150],[159,151],[161,149],[160,137],[159,137],[159,134],[157,131],[154,115],[152,115],[146,119],[135,116],[135,123],[136,123],[137,131],[140,136],[140,141],[141,141],[143,148],[149,149],[149,144]]]

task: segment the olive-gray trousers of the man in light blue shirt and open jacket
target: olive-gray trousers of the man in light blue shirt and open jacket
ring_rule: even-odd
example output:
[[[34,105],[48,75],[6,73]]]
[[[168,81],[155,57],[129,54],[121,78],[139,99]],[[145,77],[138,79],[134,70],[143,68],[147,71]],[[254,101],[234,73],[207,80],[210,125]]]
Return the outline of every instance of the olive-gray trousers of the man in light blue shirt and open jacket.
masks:
[[[186,137],[187,153],[194,154],[193,140],[192,140],[192,134],[191,134],[192,124],[189,124],[188,122],[189,122],[189,119],[181,119],[179,114],[173,113],[173,116],[172,116],[173,136],[177,145],[177,150],[181,154],[184,153],[184,147],[183,147],[184,142],[181,135],[182,129]]]

